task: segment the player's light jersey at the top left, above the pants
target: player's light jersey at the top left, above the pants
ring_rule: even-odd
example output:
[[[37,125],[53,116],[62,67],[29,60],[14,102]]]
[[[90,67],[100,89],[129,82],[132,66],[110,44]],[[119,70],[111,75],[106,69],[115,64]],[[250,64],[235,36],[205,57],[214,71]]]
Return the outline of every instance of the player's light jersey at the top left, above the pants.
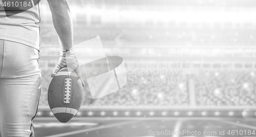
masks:
[[[40,0],[0,0],[0,39],[40,50]]]

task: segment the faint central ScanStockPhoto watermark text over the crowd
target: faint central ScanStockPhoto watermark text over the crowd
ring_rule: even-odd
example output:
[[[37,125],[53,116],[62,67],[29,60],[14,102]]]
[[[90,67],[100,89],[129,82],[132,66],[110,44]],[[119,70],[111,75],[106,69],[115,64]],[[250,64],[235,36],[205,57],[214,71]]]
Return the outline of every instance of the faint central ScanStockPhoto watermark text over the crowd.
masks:
[[[187,75],[194,74],[192,68],[128,68],[128,83],[175,84],[186,83]]]

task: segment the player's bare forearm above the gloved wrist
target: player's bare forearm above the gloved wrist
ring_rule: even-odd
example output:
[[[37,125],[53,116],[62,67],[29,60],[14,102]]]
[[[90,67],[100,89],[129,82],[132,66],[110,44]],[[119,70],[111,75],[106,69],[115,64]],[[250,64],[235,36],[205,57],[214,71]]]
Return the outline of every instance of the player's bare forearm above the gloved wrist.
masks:
[[[60,48],[67,50],[73,47],[73,23],[66,0],[48,0],[53,24],[59,36]]]

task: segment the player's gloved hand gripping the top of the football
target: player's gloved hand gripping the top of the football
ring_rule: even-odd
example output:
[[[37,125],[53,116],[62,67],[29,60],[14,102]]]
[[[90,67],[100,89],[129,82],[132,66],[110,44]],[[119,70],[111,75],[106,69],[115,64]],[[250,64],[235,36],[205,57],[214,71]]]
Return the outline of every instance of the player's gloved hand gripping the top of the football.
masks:
[[[75,54],[75,51],[73,48],[71,48],[69,50],[60,51],[59,62],[57,64],[55,70],[51,74],[51,77],[54,77],[59,72],[59,70],[64,67],[71,67],[76,72],[77,77],[81,80],[82,87],[83,87],[84,82],[81,77],[80,68],[79,68],[79,65],[78,65],[78,62],[76,59],[76,54]]]

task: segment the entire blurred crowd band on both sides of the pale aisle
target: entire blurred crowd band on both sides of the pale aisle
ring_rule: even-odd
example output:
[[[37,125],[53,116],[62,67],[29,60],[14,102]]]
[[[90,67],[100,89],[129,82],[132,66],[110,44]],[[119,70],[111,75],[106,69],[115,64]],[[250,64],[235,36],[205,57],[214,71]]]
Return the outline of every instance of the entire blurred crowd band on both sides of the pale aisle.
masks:
[[[48,105],[47,92],[52,79],[51,72],[52,69],[42,69],[39,105]],[[256,105],[256,73],[241,70],[202,70],[200,73],[189,77],[180,74],[164,76],[162,74],[131,74],[128,71],[127,84],[121,90],[110,95],[92,99],[90,89],[86,85],[82,105],[189,105],[188,81],[186,83],[164,81],[167,77],[178,76],[194,79],[197,105]],[[83,77],[85,77],[84,74]],[[161,81],[154,83],[146,79],[148,77]]]

